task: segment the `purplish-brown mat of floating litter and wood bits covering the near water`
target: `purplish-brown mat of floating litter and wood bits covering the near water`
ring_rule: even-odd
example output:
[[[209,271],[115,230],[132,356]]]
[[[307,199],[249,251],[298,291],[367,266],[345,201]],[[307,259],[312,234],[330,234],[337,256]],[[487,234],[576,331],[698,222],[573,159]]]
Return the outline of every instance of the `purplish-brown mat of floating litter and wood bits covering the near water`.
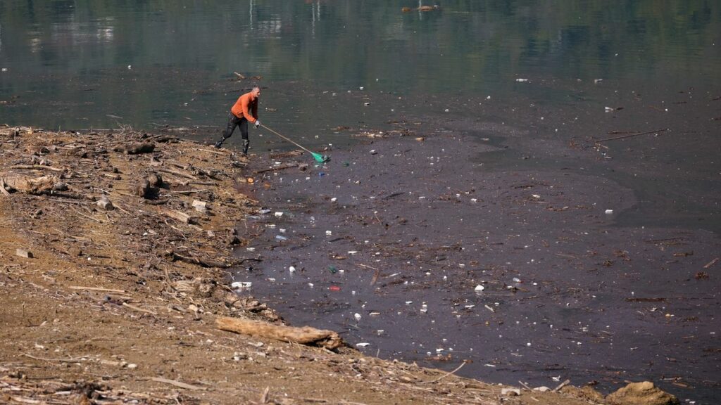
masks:
[[[619,226],[640,200],[605,174],[606,150],[444,123],[258,173],[242,190],[265,210],[238,253],[265,260],[234,277],[382,358],[531,386],[653,380],[716,403],[717,236]],[[311,159],[253,169],[274,161]]]

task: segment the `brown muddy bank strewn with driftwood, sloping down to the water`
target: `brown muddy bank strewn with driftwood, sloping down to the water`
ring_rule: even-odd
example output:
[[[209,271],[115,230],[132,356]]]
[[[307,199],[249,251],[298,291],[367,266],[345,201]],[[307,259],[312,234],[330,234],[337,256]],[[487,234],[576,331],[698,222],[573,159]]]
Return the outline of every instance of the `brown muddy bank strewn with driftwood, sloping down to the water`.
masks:
[[[247,250],[252,228],[236,228],[261,214],[236,187],[252,173],[231,150],[131,128],[0,128],[0,156],[0,402],[542,405],[596,395],[565,386],[516,396],[349,347],[218,329],[278,324],[226,282],[230,266],[265,261]]]

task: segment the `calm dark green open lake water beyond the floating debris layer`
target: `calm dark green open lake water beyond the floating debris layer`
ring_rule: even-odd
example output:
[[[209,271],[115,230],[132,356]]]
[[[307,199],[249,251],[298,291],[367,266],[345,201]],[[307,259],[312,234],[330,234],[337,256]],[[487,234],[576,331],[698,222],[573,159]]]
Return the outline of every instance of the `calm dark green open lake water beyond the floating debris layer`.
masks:
[[[629,162],[616,180],[643,201],[622,219],[721,231],[719,2],[443,1],[402,12],[420,5],[433,4],[4,0],[0,123],[170,125],[210,141],[260,84],[263,123],[311,147],[348,143],[339,127],[436,120],[449,103],[448,120],[513,121],[574,142],[668,128],[616,149]],[[466,102],[485,97],[497,114]],[[271,136],[254,146],[281,147]],[[634,172],[640,153],[663,179]]]

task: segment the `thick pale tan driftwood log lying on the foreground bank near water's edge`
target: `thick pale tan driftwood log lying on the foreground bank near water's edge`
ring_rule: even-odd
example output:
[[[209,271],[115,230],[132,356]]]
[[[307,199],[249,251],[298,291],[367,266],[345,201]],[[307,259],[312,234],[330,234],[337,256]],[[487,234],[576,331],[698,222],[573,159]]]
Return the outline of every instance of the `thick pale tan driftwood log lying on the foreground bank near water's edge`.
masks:
[[[267,337],[283,342],[307,344],[309,346],[325,347],[332,350],[343,345],[340,336],[334,332],[315,329],[311,326],[296,328],[293,326],[273,325],[262,321],[250,319],[230,318],[221,316],[216,319],[218,329],[231,331],[237,334],[248,334],[255,337]]]

